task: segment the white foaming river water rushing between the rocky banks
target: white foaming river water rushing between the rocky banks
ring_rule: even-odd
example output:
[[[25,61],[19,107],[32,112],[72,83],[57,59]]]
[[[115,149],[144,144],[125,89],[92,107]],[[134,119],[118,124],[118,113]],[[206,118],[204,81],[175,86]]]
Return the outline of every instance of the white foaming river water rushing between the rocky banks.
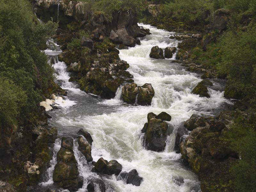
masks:
[[[123,171],[136,169],[143,182],[139,187],[117,180],[116,176],[103,178],[108,183],[107,191],[116,192],[197,192],[200,191],[200,182],[195,173],[182,164],[181,155],[173,150],[178,127],[192,114],[214,115],[223,110],[229,100],[224,95],[224,82],[212,80],[213,89],[209,89],[210,98],[192,94],[200,76],[186,71],[180,64],[171,61],[174,59],[155,60],[149,58],[150,50],[158,45],[160,48],[178,46],[180,41],[169,39],[171,32],[160,30],[149,25],[152,35],[141,38],[141,45],[127,50],[120,50],[120,58],[130,64],[128,71],[134,76],[138,85],[151,83],[155,96],[151,106],[133,106],[121,100],[121,88],[118,88],[116,97],[104,100],[92,94],[79,90],[77,85],[68,82],[69,73],[66,64],[56,59],[54,68],[57,73],[57,82],[63,89],[68,90],[67,99],[62,108],[52,110],[49,114],[51,126],[58,128],[58,137],[73,136],[79,129],[84,128],[92,135],[92,157],[97,161],[104,159],[117,160],[123,165]],[[46,51],[48,55],[58,55],[58,51]],[[175,57],[175,55],[174,55]],[[57,58],[57,57],[56,57]],[[140,130],[147,122],[147,114],[159,114],[165,111],[172,116],[171,124],[174,130],[167,140],[164,152],[145,150],[142,146]],[[60,139],[53,147],[53,159],[45,173],[44,182],[39,188],[54,188],[52,172],[56,164],[56,154],[60,149]],[[80,175],[84,179],[83,188],[87,191],[88,178],[98,177],[90,172],[92,164],[87,164],[83,155],[77,150],[77,141],[74,140],[74,153],[78,162]],[[178,186],[173,177],[183,177],[185,183]],[[62,191],[62,189],[57,191]],[[34,189],[35,190],[35,189]],[[33,191],[33,190],[32,190]],[[67,191],[67,190],[64,190]]]

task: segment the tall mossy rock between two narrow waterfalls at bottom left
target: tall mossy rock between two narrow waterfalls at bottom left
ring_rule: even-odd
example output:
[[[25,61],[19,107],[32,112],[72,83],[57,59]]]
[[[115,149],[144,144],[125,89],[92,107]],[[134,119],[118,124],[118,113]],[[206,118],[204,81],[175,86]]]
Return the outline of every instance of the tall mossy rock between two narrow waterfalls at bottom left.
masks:
[[[83,186],[83,180],[79,177],[77,162],[73,152],[73,139],[63,137],[61,148],[57,154],[57,164],[53,171],[53,181],[69,191],[77,191]]]

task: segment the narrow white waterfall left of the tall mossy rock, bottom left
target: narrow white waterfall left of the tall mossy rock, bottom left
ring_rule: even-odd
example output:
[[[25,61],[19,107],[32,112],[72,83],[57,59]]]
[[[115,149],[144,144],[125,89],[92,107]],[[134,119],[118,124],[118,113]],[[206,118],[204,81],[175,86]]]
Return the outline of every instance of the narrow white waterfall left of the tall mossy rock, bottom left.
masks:
[[[47,173],[46,177],[48,181],[40,183],[40,185],[42,186],[48,186],[53,184],[52,175],[53,175],[54,167],[57,164],[57,154],[60,150],[60,147],[61,147],[61,139],[56,139],[53,147],[53,156],[52,156],[52,160],[50,161],[50,167],[47,169],[47,172],[46,172]]]

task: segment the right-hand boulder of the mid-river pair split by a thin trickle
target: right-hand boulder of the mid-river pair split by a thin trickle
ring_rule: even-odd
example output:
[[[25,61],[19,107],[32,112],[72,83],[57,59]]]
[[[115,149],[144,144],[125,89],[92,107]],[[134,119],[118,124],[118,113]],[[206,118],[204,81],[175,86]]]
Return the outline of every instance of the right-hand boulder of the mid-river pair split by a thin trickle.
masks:
[[[145,83],[139,87],[138,103],[139,105],[151,105],[152,98],[155,95],[155,91],[151,84]]]

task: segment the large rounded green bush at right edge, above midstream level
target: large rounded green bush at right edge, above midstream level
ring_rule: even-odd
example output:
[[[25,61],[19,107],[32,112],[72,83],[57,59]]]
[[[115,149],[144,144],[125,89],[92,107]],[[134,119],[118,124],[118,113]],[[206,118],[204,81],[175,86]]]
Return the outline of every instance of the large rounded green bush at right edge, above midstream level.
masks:
[[[256,30],[234,33],[220,38],[221,62],[218,68],[228,74],[228,81],[237,91],[256,93]]]

